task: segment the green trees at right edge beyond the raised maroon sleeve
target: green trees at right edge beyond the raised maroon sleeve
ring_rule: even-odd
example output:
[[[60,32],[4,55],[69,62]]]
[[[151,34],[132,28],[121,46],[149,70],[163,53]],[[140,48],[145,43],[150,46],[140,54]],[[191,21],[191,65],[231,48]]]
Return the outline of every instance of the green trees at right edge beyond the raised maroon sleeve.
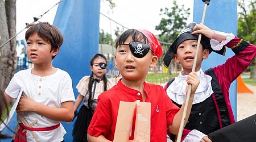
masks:
[[[256,45],[256,0],[238,0],[238,37]],[[251,62],[250,78],[255,80],[256,59]]]

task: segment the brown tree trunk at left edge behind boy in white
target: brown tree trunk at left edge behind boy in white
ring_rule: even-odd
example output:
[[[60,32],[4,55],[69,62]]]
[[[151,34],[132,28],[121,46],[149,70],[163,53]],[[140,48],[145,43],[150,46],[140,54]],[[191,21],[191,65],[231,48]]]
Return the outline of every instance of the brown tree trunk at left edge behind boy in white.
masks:
[[[16,1],[0,0],[0,45],[16,34]],[[5,91],[16,69],[16,38],[1,48],[0,89]]]

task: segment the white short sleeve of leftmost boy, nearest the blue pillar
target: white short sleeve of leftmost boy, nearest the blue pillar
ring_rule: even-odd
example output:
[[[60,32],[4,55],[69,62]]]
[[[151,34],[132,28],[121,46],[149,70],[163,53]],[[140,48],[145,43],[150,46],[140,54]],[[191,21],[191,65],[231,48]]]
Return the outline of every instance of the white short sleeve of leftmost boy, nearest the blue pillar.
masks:
[[[66,73],[64,76],[61,89],[61,103],[76,100],[73,92],[72,80],[68,73]]]

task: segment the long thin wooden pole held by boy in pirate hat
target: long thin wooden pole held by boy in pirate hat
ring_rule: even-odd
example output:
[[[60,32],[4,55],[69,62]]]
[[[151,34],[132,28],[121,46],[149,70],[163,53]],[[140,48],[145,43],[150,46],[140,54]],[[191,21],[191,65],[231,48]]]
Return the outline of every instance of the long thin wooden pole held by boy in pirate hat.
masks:
[[[203,17],[202,17],[202,21],[201,21],[202,24],[204,24],[204,18],[205,18],[205,12],[207,10],[207,5],[209,5],[209,3],[205,2]],[[197,45],[196,45],[196,55],[195,55],[193,66],[192,66],[192,72],[195,72],[195,70],[196,70],[196,61],[197,61],[196,59],[197,59],[198,52],[199,52],[201,37],[202,37],[202,34],[199,34],[199,37],[198,37],[198,40],[197,40]],[[185,106],[184,106],[184,110],[183,110],[183,114],[182,114],[182,118],[181,118],[181,122],[180,122],[180,128],[179,128],[179,132],[178,132],[178,135],[177,135],[177,142],[181,141],[182,132],[183,132],[183,129],[185,127],[184,124],[185,124],[185,118],[186,118],[186,114],[187,114],[187,110],[188,110],[188,101],[189,101],[189,98],[190,98],[190,95],[191,95],[191,89],[192,89],[192,85],[189,84],[188,85],[188,92],[187,92],[186,100],[185,100],[185,104],[184,104]]]

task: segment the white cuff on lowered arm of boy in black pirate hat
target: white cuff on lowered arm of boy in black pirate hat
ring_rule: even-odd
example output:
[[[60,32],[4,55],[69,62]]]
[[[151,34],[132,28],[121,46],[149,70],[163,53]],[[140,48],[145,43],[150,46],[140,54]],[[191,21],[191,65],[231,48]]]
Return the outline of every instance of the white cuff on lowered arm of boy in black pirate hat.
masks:
[[[205,135],[204,133],[198,130],[192,130],[191,132],[188,133],[188,135],[185,137],[183,142],[189,142],[189,141],[199,142],[201,139],[203,139],[204,136],[207,136],[207,135]]]

